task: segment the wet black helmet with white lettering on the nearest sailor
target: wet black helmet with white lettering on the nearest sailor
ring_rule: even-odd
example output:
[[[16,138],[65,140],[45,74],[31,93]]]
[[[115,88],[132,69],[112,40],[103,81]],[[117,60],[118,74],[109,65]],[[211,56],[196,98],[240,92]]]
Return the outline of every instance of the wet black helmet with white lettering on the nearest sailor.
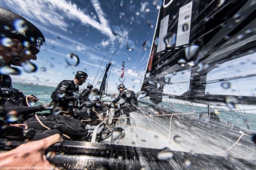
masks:
[[[3,7],[0,7],[0,16],[1,41],[8,42],[10,41],[8,38],[17,38],[25,48],[29,48],[32,44],[38,46],[45,44],[45,38],[41,31],[22,16]],[[12,55],[16,61],[22,58],[21,56]]]

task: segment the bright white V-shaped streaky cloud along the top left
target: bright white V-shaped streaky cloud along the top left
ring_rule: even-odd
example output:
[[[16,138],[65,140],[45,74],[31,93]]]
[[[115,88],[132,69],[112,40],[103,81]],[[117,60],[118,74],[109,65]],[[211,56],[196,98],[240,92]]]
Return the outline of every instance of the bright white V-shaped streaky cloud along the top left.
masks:
[[[90,18],[90,15],[77,7],[77,4],[65,0],[4,0],[7,6],[13,9],[19,9],[19,13],[24,16],[33,16],[32,19],[38,20],[40,23],[51,27],[55,26],[64,31],[68,31],[69,22],[66,20],[79,20],[82,24],[89,24],[96,28],[103,35],[112,37],[112,31],[108,25],[108,21],[104,18],[100,2],[91,0],[95,11],[98,14],[100,23]],[[51,24],[51,25],[49,25]]]

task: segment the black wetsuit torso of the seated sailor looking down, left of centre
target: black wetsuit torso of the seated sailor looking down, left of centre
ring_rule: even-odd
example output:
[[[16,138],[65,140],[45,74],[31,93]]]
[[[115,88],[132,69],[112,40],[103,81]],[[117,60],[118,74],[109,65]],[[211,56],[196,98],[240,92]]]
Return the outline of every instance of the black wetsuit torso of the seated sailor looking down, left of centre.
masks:
[[[61,109],[67,114],[73,114],[73,108],[75,103],[74,95],[78,93],[79,87],[74,80],[62,81],[51,95],[52,103],[54,103],[51,114],[54,114],[56,110]]]

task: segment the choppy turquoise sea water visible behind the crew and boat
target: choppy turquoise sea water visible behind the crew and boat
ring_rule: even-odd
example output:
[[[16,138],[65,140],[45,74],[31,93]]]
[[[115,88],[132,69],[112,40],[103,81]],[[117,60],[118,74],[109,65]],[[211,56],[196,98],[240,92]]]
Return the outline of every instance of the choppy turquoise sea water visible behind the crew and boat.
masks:
[[[35,95],[38,97],[39,101],[43,103],[50,103],[51,102],[51,94],[54,91],[55,87],[50,86],[41,86],[41,85],[27,85],[27,84],[20,84],[20,83],[13,83],[13,88],[22,90],[24,95]],[[80,89],[81,91],[83,89]],[[103,101],[112,101],[113,97],[105,96],[102,98]],[[164,99],[163,99],[164,100]],[[143,102],[149,102],[148,99],[141,99]],[[41,105],[42,103],[37,102],[37,105]],[[153,103],[151,103],[153,104]],[[144,105],[144,104],[140,104]],[[163,102],[159,103],[158,106],[162,107],[163,109],[168,109],[175,111],[176,113],[191,113],[199,115],[207,114],[207,108],[203,105],[194,106],[176,102],[170,102],[164,100]],[[220,121],[223,123],[231,122],[233,125],[240,127],[244,131],[249,131],[252,133],[256,133],[256,114],[246,113],[245,111],[230,111],[228,108],[220,109],[220,108],[211,108],[211,111],[218,109],[218,117]],[[249,127],[249,128],[248,128]]]

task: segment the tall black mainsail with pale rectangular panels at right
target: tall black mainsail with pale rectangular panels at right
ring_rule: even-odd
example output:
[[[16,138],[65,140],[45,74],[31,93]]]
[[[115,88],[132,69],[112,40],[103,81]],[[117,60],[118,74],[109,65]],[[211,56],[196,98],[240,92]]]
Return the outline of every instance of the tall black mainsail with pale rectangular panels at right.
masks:
[[[256,97],[249,93],[254,89],[243,82],[256,78],[248,62],[256,48],[256,3],[167,0],[165,4],[141,91],[155,103],[166,96],[205,104],[254,104]]]

